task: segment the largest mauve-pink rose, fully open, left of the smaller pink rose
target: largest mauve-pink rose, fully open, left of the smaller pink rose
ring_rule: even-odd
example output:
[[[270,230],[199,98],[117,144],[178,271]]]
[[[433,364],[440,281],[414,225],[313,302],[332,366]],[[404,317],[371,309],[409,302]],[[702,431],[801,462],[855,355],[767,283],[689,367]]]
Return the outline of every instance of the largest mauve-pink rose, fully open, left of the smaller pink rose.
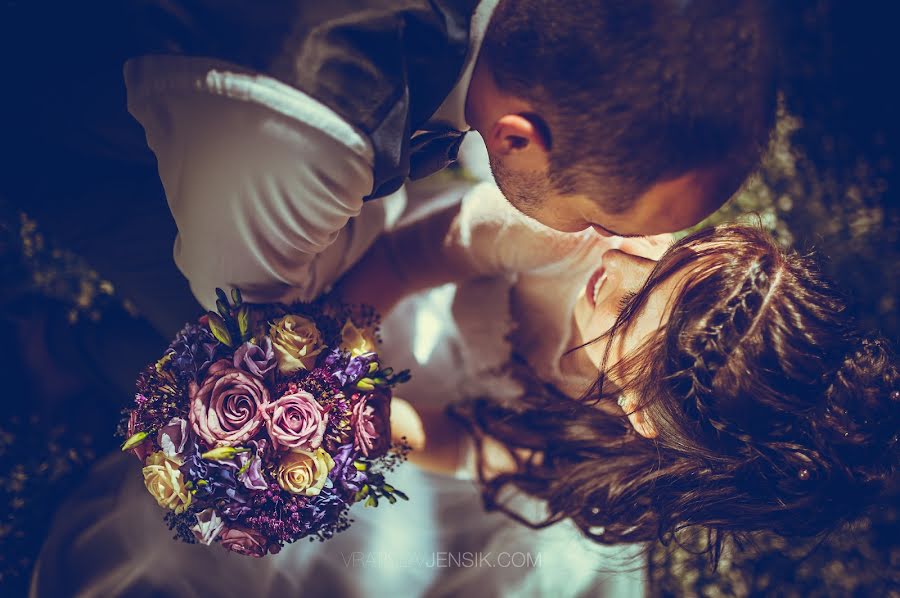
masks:
[[[237,446],[263,425],[269,391],[263,382],[227,360],[210,366],[203,384],[190,385],[191,426],[210,446]]]

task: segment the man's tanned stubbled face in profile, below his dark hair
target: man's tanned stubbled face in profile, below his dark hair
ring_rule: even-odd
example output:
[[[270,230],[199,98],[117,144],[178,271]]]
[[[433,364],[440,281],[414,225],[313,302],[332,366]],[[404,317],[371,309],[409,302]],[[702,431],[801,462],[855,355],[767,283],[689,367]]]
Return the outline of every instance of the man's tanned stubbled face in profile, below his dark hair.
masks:
[[[610,210],[588,194],[560,193],[546,171],[514,170],[493,154],[490,163],[497,185],[513,206],[562,232],[589,227],[604,236],[621,237],[676,232],[714,212],[731,191],[702,172],[691,172],[651,185],[624,210]],[[596,184],[602,188],[603,182]]]

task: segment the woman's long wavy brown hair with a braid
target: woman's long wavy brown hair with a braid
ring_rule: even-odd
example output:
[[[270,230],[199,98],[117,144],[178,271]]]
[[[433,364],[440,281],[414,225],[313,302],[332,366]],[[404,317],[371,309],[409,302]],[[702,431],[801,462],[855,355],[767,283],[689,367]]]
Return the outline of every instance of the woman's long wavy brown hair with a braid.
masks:
[[[607,350],[580,401],[532,381],[518,405],[451,409],[479,447],[487,508],[532,527],[570,518],[607,544],[668,542],[696,526],[717,558],[729,535],[813,536],[896,489],[893,356],[853,329],[809,258],[766,233],[726,225],[682,239],[604,338],[625,332],[683,270],[666,324],[615,366],[619,387],[604,379]],[[639,397],[657,438],[598,409],[622,392]],[[518,455],[516,471],[484,475],[484,436]],[[524,517],[504,500],[509,489],[545,500],[547,517]]]

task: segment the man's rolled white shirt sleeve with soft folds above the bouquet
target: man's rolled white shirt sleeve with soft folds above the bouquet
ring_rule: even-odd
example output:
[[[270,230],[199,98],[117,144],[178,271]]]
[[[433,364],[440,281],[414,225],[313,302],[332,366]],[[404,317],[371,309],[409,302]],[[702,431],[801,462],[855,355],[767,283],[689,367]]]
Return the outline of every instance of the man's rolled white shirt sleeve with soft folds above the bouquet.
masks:
[[[208,59],[146,56],[125,67],[178,226],[174,258],[202,305],[311,300],[381,230],[368,140],[269,77]]]

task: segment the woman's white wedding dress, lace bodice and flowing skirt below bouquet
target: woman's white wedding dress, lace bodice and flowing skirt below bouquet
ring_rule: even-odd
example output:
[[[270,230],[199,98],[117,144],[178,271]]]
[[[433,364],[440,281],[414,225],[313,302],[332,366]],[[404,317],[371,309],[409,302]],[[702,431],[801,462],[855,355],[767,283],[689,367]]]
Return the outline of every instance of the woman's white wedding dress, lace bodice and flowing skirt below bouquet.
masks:
[[[497,372],[510,343],[542,378],[577,395],[594,372],[562,364],[571,311],[608,249],[588,231],[562,234],[511,208],[491,185],[470,191],[461,250],[491,276],[401,303],[382,326],[386,359],[409,367],[413,404],[514,399]],[[450,314],[453,317],[448,317]],[[565,370],[565,375],[563,371]],[[535,531],[482,509],[475,484],[412,465],[391,479],[410,501],[353,508],[351,528],[252,559],[171,539],[130,455],[113,455],[56,515],[32,596],[609,596],[644,594],[640,546],[601,546],[569,522]],[[528,506],[536,507],[529,503]]]

